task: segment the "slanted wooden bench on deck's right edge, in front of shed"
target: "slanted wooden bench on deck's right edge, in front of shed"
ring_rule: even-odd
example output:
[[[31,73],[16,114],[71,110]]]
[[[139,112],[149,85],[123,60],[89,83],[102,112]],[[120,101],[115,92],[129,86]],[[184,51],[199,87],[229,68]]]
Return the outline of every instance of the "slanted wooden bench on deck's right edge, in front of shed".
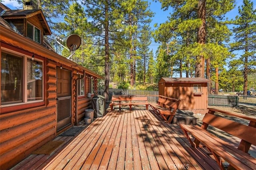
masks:
[[[156,114],[160,115],[168,123],[171,123],[180,101],[180,99],[159,96],[157,103],[149,103],[149,105]]]

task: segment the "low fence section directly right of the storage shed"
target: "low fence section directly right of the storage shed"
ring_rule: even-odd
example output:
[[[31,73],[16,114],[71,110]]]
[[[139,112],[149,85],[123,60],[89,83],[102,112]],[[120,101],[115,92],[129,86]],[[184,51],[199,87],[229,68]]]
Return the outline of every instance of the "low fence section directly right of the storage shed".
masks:
[[[238,96],[208,94],[209,106],[238,106]]]

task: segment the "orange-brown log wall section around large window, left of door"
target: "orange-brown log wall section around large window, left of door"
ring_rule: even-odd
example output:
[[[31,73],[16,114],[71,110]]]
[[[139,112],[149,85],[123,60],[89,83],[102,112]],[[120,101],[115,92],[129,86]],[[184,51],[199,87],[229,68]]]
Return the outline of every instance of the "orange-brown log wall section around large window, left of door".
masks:
[[[56,63],[46,61],[46,106],[0,115],[0,167],[8,169],[56,136]]]

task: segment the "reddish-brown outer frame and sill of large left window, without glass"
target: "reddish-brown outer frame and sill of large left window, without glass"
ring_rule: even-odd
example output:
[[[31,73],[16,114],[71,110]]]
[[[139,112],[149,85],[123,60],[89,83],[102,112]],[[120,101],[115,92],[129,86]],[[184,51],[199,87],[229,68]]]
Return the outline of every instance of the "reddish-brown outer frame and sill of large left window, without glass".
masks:
[[[30,108],[30,107],[35,107],[35,106],[42,106],[45,105],[45,61],[42,59],[35,59],[34,61],[38,61],[42,63],[42,99],[41,100],[33,100],[33,101],[28,101],[28,89],[27,89],[27,85],[28,85],[28,68],[27,68],[27,64],[28,64],[28,60],[32,60],[32,57],[23,53],[19,53],[17,51],[12,51],[10,49],[5,49],[2,48],[1,49],[1,53],[7,53],[10,55],[14,55],[16,57],[21,57],[22,58],[22,100],[21,102],[15,103],[12,102],[10,104],[2,104],[2,102],[0,102],[0,107],[1,107],[1,113],[5,113],[8,111],[16,111],[16,110],[20,110],[20,109],[26,109],[26,108]],[[2,57],[2,55],[1,55]],[[17,107],[18,106],[18,107]],[[15,107],[15,108],[14,108]],[[3,109],[3,110],[2,110]]]

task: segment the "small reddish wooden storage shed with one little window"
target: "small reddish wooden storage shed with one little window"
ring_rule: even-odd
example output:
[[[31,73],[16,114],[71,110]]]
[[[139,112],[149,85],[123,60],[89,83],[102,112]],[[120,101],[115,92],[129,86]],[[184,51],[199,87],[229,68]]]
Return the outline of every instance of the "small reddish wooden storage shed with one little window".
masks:
[[[159,95],[180,98],[179,109],[205,113],[208,107],[208,83],[206,78],[161,78]]]

